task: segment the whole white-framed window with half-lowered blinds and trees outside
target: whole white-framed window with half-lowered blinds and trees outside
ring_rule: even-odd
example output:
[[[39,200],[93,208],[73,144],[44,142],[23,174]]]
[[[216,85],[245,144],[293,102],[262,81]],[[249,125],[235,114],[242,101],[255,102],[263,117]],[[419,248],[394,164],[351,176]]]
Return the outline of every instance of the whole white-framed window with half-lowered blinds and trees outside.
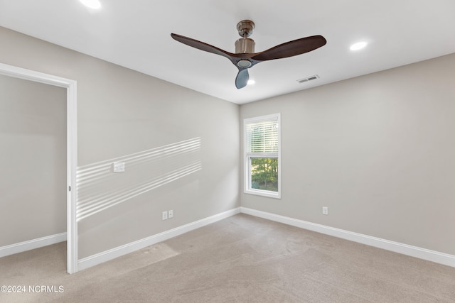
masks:
[[[280,114],[245,119],[245,192],[280,198]]]

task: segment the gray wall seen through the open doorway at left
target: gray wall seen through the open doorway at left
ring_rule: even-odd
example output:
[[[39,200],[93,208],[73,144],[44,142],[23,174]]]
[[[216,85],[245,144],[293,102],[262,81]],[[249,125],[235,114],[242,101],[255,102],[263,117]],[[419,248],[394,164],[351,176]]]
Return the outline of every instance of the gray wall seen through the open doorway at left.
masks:
[[[0,75],[0,246],[66,232],[66,89]]]

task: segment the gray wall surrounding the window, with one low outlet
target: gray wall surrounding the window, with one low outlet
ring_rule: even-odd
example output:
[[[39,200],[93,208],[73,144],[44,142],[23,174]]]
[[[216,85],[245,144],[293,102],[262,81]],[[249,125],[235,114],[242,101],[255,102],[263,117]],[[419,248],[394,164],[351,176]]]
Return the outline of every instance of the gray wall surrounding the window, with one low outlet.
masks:
[[[455,54],[241,106],[282,114],[282,199],[242,206],[454,255],[454,79]]]

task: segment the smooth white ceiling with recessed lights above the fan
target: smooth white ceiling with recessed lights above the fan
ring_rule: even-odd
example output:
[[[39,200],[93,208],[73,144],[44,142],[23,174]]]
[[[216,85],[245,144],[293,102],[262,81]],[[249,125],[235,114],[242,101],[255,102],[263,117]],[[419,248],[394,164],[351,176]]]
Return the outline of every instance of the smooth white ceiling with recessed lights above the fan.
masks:
[[[0,0],[0,26],[237,104],[455,53],[454,0],[100,1],[94,11],[79,0]],[[256,52],[309,35],[328,42],[255,65],[256,84],[236,89],[230,60],[170,35],[234,53],[244,19],[256,24]],[[349,50],[359,40],[367,48]]]

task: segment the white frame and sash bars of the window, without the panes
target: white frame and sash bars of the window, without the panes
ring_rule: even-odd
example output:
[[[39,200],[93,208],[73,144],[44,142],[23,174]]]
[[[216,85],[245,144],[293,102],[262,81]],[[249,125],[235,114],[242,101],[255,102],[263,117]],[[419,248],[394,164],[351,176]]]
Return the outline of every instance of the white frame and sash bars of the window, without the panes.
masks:
[[[248,138],[247,138],[247,124],[250,123],[257,123],[260,121],[267,121],[267,120],[277,120],[278,123],[278,153],[248,153],[247,146],[248,146]],[[271,197],[275,199],[281,199],[281,183],[282,183],[282,174],[281,174],[281,114],[271,114],[267,116],[257,116],[253,118],[247,118],[243,120],[243,167],[245,171],[244,177],[244,192],[245,194],[256,194],[259,196],[264,197]],[[252,158],[277,158],[278,159],[278,192],[272,192],[269,190],[264,189],[253,189],[251,188],[251,159]]]

